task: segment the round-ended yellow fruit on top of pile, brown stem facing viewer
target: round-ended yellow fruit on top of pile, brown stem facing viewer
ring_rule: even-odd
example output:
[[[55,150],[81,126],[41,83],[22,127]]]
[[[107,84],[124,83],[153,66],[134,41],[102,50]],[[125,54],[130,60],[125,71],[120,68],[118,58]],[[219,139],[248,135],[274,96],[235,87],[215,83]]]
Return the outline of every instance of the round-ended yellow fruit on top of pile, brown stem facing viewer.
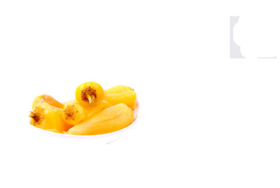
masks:
[[[92,93],[91,93],[92,92]],[[80,84],[76,88],[76,100],[81,105],[86,107],[93,107],[102,102],[105,92],[99,83],[89,81]]]

